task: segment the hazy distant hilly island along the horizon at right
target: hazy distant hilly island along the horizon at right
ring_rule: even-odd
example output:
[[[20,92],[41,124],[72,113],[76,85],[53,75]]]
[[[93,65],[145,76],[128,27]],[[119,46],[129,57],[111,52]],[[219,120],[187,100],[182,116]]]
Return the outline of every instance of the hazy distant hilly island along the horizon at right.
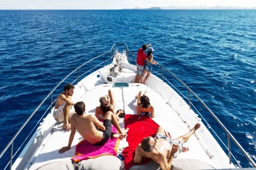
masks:
[[[256,7],[238,7],[238,6],[216,6],[216,7],[207,7],[207,6],[168,6],[168,7],[151,7],[142,9],[140,7],[135,7],[133,9],[123,9],[123,10],[255,10]]]

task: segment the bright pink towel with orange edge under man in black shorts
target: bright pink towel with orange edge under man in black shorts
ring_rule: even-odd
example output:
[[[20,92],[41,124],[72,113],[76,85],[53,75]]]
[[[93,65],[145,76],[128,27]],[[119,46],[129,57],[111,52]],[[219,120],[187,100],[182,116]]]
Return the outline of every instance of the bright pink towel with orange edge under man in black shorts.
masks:
[[[116,133],[116,127],[112,125],[112,132]],[[76,145],[76,156],[71,158],[75,163],[88,158],[96,158],[102,155],[116,156],[118,151],[119,139],[110,138],[104,145],[96,146],[88,143],[87,140],[82,140]]]

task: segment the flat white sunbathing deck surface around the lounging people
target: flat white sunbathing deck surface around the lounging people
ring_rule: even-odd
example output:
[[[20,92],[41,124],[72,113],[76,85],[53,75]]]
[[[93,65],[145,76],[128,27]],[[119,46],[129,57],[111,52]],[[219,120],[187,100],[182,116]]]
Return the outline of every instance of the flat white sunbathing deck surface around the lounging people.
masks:
[[[179,112],[177,112],[175,108],[169,106],[168,102],[161,97],[161,95],[143,84],[130,84],[129,88],[113,87],[113,84],[102,84],[86,92],[85,95],[76,101],[84,101],[86,113],[94,114],[95,107],[99,106],[99,97],[102,95],[107,95],[108,89],[112,89],[113,91],[116,102],[115,110],[124,109],[126,114],[136,114],[135,95],[137,95],[140,90],[143,90],[143,92],[144,90],[147,90],[147,95],[151,100],[152,106],[155,108],[155,117],[153,120],[160,126],[164,127],[171,134],[172,138],[176,138],[187,133],[196,123],[194,122],[194,124],[190,124],[189,127],[189,125],[184,123],[180,118],[178,115]],[[190,112],[190,110],[183,110],[183,112]],[[46,119],[52,119],[51,121],[47,121],[48,123],[55,122],[51,114],[49,114]],[[124,127],[123,120],[120,120],[120,126]],[[199,136],[204,132],[204,128],[205,127],[202,126],[201,129],[196,132],[196,134]],[[52,132],[46,137],[46,140],[43,141],[40,149],[38,149],[38,153],[35,154],[35,157],[30,159],[31,166],[29,169],[38,169],[41,166],[54,161],[70,160],[71,157],[74,156],[76,144],[82,140],[82,137],[78,134],[78,132],[76,132],[71,149],[63,154],[59,154],[59,149],[63,146],[67,146],[69,134],[70,131],[64,131],[62,129],[62,124],[56,124],[53,127]],[[211,166],[213,168],[218,168],[218,165],[216,165],[214,160],[207,155],[207,152],[205,152],[205,149],[202,148],[195,135],[193,135],[190,140],[184,144],[184,146],[187,146],[190,150],[180,154],[179,157],[177,157],[174,161],[174,166],[176,162],[179,162],[179,160],[187,161],[192,159],[199,160],[210,165],[205,167],[207,169],[209,169]],[[117,159],[117,161],[120,160]]]

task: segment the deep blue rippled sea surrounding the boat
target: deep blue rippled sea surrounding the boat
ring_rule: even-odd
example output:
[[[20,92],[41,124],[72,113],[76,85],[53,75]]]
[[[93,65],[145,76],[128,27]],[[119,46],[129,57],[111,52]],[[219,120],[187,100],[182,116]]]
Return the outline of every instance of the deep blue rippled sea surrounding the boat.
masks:
[[[151,43],[256,161],[255,28],[256,10],[0,10],[0,151],[69,72],[126,42]]]

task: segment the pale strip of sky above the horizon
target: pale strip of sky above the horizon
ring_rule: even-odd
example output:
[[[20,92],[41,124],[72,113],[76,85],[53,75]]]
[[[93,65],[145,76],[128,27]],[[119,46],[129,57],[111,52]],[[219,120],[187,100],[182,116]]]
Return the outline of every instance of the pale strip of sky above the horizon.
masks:
[[[256,0],[0,0],[1,9],[133,9],[168,6],[256,7]]]

